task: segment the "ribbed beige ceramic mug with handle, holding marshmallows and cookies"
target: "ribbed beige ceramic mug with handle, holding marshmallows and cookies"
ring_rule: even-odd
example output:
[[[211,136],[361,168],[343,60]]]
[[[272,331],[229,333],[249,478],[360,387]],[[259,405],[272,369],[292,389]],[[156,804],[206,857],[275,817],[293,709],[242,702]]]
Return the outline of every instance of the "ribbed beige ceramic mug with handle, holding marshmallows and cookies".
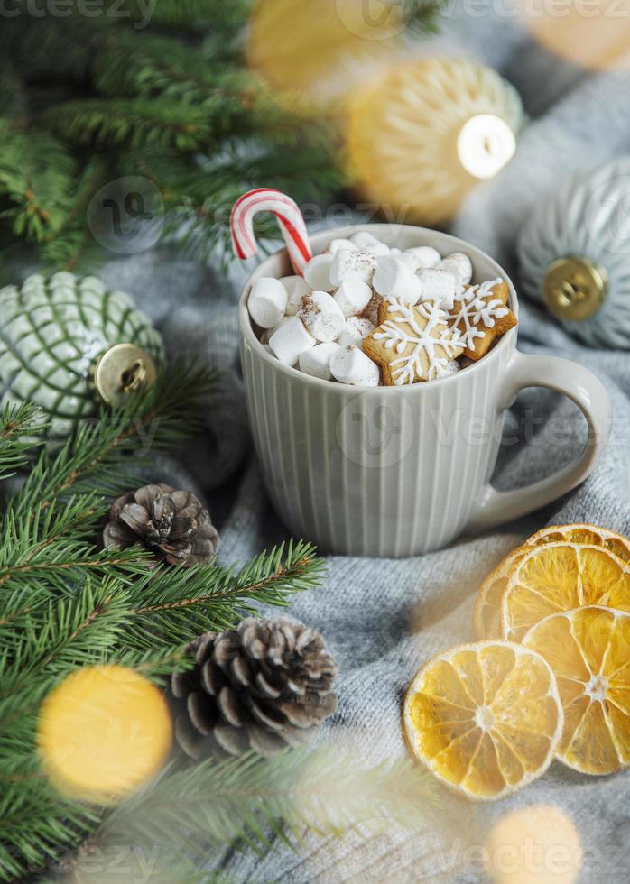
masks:
[[[390,246],[432,245],[466,252],[474,281],[503,277],[488,255],[454,236],[405,225],[361,225],[314,235],[314,253],[330,240],[369,230]],[[542,507],[582,482],[607,442],[610,404],[581,365],[523,355],[517,328],[476,364],[439,381],[360,388],[288,368],[255,336],[246,301],[262,276],[292,272],[286,251],[250,277],[240,299],[241,358],[247,410],[264,483],[293,536],[322,552],[403,557],[439,549],[464,531],[488,529]],[[569,396],[588,421],[588,444],[559,473],[499,492],[489,483],[505,409],[524,387]]]

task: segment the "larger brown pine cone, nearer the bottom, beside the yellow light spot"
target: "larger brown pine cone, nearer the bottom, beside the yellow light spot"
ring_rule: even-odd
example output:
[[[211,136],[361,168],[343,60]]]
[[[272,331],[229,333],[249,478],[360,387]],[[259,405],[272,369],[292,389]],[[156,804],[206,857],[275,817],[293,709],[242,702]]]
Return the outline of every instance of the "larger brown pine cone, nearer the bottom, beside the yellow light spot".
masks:
[[[248,617],[235,631],[208,632],[188,647],[196,665],[174,673],[175,734],[190,758],[269,758],[309,743],[337,710],[337,664],[320,633],[285,618]]]

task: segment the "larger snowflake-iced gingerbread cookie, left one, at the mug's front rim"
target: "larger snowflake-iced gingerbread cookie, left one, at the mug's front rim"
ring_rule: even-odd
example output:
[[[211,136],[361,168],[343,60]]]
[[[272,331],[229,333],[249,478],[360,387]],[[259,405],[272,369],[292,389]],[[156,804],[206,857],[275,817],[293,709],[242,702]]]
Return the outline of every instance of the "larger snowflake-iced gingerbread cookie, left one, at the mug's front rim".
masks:
[[[408,307],[384,300],[378,319],[363,349],[380,366],[387,387],[446,377],[449,363],[464,349],[457,329],[449,327],[448,313],[431,301]]]

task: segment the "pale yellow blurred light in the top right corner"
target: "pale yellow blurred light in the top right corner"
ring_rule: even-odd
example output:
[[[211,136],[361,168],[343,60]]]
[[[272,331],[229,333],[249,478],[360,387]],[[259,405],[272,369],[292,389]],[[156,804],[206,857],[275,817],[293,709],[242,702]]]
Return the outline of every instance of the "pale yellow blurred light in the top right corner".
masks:
[[[630,0],[519,0],[525,26],[549,51],[591,70],[630,68]]]

